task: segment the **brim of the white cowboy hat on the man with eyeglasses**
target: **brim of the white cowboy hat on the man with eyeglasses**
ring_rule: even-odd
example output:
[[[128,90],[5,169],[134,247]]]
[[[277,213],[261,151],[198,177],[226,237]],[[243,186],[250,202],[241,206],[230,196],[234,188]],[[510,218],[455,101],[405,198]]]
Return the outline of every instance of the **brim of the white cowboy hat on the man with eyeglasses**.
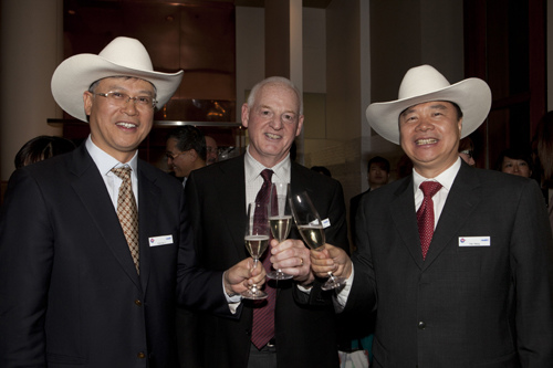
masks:
[[[92,83],[109,76],[131,76],[148,81],[157,90],[156,108],[160,108],[177,91],[182,74],[182,71],[174,74],[143,71],[115,64],[100,55],[79,54],[64,60],[58,66],[51,87],[60,107],[77,119],[87,122],[83,93],[88,91]]]

